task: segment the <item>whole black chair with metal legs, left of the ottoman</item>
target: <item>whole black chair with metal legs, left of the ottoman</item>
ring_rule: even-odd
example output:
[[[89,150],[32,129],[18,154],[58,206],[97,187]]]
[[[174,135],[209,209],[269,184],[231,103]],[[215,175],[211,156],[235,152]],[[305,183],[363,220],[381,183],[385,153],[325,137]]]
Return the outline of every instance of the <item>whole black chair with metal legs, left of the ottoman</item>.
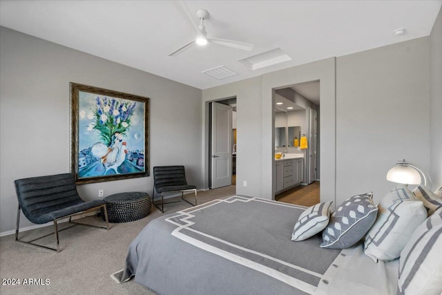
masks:
[[[106,227],[95,225],[86,226],[109,229],[108,214],[104,201],[92,200],[85,202],[84,200],[81,200],[77,193],[77,187],[75,186],[75,178],[73,174],[64,173],[34,178],[23,178],[15,180],[14,183],[15,190],[17,191],[17,198],[19,199],[17,229],[15,230],[15,240],[17,242],[59,252],[59,230],[57,228],[57,221],[64,218],[69,218],[69,222],[74,225],[65,229],[75,227],[76,225],[86,225],[73,222],[71,218],[81,213],[99,210],[100,208],[104,209]],[[35,240],[39,240],[51,234],[41,236],[27,242],[19,240],[20,209],[30,222],[37,225],[41,225],[46,222],[54,222],[55,232],[51,234],[55,234],[55,238],[57,240],[56,249],[33,243]]]

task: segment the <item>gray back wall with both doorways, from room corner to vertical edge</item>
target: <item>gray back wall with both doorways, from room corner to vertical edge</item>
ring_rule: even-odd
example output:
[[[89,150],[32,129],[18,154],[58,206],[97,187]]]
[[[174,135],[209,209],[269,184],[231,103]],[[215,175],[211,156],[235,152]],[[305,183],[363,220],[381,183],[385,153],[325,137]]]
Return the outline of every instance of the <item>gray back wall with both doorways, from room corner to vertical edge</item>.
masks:
[[[326,149],[322,149],[321,146],[323,153],[321,170],[327,171],[329,177],[321,181],[320,189],[324,191],[323,200],[334,200],[334,74],[334,58],[329,58],[202,91],[204,106],[210,101],[226,97],[237,99],[236,193],[274,198],[272,182],[273,173],[276,173],[273,171],[274,89],[320,80],[321,110],[325,110],[322,113],[320,129],[327,131],[321,133],[321,142],[331,144]],[[206,126],[209,119],[206,113],[207,111],[203,113],[205,116],[203,131],[204,137],[208,138]],[[203,170],[207,170],[209,155],[206,153],[207,147],[203,146],[203,149]],[[243,185],[244,180],[247,181],[247,187]]]

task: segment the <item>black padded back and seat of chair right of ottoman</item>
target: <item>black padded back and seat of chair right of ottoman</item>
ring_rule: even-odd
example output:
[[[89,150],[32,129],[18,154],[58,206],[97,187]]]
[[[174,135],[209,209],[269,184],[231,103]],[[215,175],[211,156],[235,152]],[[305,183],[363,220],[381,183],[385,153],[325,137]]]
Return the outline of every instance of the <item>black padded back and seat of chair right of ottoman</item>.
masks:
[[[153,167],[153,182],[158,193],[161,193],[166,187],[187,186],[184,166]]]

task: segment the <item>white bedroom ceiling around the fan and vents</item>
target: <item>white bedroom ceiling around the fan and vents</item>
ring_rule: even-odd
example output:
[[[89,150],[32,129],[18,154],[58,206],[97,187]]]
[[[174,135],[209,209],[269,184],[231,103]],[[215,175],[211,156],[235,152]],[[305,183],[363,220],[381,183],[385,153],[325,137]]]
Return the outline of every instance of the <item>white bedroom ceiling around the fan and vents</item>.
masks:
[[[204,8],[208,37],[255,44],[253,50],[208,44],[175,57],[195,39],[179,1],[0,1],[0,24],[70,48],[205,89],[328,57],[430,35],[442,0],[184,1]],[[195,17],[196,21],[196,17]],[[392,32],[405,28],[405,34]],[[291,61],[251,70],[239,60],[275,48]],[[202,71],[227,66],[218,80]]]

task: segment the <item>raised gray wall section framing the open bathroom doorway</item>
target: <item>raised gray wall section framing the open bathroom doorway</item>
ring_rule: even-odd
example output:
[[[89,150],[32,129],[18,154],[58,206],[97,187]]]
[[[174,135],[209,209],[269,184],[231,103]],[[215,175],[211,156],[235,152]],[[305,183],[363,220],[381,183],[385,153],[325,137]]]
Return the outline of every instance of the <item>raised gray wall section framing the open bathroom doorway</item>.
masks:
[[[321,178],[321,200],[335,200],[335,58],[314,61],[309,64],[278,70],[262,76],[262,198],[274,198],[273,173],[273,93],[276,89],[294,84],[320,81],[320,104],[323,113],[320,118],[320,141],[329,144],[321,146],[320,169],[327,175]],[[203,94],[204,95],[204,94]],[[324,132],[323,132],[324,131]]]

